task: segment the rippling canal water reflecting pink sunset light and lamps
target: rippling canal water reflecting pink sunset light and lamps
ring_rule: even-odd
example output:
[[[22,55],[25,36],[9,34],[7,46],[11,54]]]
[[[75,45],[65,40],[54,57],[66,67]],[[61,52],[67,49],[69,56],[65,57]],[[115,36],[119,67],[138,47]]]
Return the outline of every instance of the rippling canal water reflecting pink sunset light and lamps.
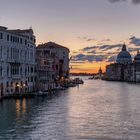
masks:
[[[140,85],[84,79],[51,97],[0,102],[0,140],[139,140]]]

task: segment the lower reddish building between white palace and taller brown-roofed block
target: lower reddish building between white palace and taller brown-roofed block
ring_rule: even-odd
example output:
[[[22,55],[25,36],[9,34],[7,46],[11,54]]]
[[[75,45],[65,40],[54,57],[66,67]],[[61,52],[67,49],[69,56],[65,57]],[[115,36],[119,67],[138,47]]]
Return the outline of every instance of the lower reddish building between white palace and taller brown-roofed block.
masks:
[[[38,89],[47,91],[54,88],[55,80],[59,77],[59,59],[49,50],[37,47],[36,62]]]

